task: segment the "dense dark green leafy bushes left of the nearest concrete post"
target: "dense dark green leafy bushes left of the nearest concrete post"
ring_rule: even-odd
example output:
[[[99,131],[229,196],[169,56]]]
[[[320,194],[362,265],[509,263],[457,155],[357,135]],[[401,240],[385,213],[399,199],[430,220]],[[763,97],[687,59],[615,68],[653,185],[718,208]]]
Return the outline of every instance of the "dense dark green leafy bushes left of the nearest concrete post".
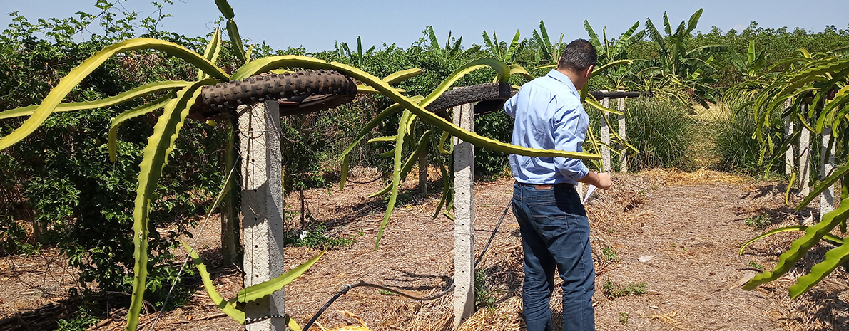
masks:
[[[104,10],[110,8],[103,8]],[[87,22],[77,19],[51,19],[30,24],[15,16],[0,42],[0,108],[10,109],[36,103],[47,95],[59,78],[70,72],[98,48],[108,42],[132,35],[132,29],[121,22],[132,21],[131,15],[105,14],[106,36],[92,36],[90,41],[73,42],[70,33]],[[85,16],[85,15],[83,15]],[[48,39],[37,36],[44,35]],[[169,34],[172,41],[196,47],[197,39]],[[48,63],[32,66],[31,63]],[[122,58],[111,58],[95,69],[88,79],[70,91],[69,101],[90,101],[114,96],[138,85],[155,80],[173,80],[191,73],[191,68],[177,58],[164,58],[153,52],[136,51]],[[14,84],[22,84],[15,86]],[[155,97],[153,97],[155,98]],[[148,100],[152,100],[150,98]],[[124,141],[118,145],[121,159],[108,161],[105,132],[110,119],[134,107],[130,102],[110,108],[97,108],[84,113],[59,113],[48,118],[41,129],[31,134],[26,144],[0,152],[0,227],[9,229],[0,245],[6,253],[26,252],[31,241],[25,238],[20,223],[9,216],[31,211],[47,231],[42,241],[57,245],[71,266],[80,270],[82,289],[90,284],[99,290],[128,292],[130,279],[127,266],[132,265],[132,223],[127,210],[132,208],[132,174],[138,170],[141,146],[151,131],[150,118],[129,121],[121,130]],[[0,135],[7,135],[20,125],[19,119],[0,121]],[[207,151],[216,149],[215,130],[204,125],[188,124],[190,141],[177,141],[172,163],[177,169],[166,170],[168,179],[156,190],[168,199],[156,201],[151,208],[151,223],[157,228],[175,225],[175,231],[153,234],[149,249],[152,268],[149,287],[154,293],[149,301],[159,302],[164,293],[161,284],[175,277],[169,248],[177,235],[192,224],[201,210],[199,204],[208,192],[216,190],[217,160]],[[20,161],[18,161],[20,160]],[[27,179],[27,180],[23,180]],[[20,183],[21,185],[16,185]],[[17,218],[21,219],[21,218]],[[93,236],[91,234],[100,234]]]

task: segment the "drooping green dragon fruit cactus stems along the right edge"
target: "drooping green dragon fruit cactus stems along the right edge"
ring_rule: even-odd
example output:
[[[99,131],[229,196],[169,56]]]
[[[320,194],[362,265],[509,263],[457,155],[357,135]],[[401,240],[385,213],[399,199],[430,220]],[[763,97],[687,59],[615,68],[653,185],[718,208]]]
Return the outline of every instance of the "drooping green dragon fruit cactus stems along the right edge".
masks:
[[[849,58],[842,57],[841,53],[810,54],[801,50],[800,56],[776,64],[788,65],[789,68],[778,74],[768,86],[758,91],[752,102],[757,120],[754,135],[762,143],[762,154],[776,152],[768,135],[769,131],[775,130],[769,126],[769,119],[773,113],[780,112],[789,115],[797,124],[812,132],[824,134],[830,131],[832,138],[828,143],[828,150],[834,150],[839,159],[846,160],[847,151],[849,151],[849,139],[846,139],[846,130],[849,129],[849,108],[846,107],[849,103]],[[788,100],[790,100],[790,108],[785,108],[784,102]],[[783,154],[792,141],[792,137],[785,137],[779,144],[781,146],[779,151],[775,154]],[[774,157],[773,162],[778,158]],[[773,270],[756,275],[743,285],[744,290],[754,290],[761,284],[779,279],[821,240],[829,241],[836,247],[827,251],[824,260],[815,264],[809,273],[796,279],[796,284],[789,288],[791,298],[811,290],[835,268],[849,261],[849,244],[846,243],[845,237],[846,219],[849,218],[849,177],[847,176],[849,176],[849,164],[845,163],[828,177],[818,180],[811,193],[805,196],[796,207],[797,211],[801,210],[825,190],[831,190],[835,184],[840,183],[840,207],[824,214],[819,223],[807,228],[776,229],[754,239],[790,230],[805,232],[801,238],[793,241],[790,250],[781,254]],[[842,236],[832,234],[832,230],[838,226]]]

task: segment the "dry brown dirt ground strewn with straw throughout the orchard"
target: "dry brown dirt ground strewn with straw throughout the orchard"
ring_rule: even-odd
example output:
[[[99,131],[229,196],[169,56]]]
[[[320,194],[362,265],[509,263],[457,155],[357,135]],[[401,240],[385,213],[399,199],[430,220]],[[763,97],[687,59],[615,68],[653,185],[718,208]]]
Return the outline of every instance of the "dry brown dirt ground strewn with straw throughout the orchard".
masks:
[[[615,183],[616,190],[604,192],[588,204],[598,270],[593,301],[599,330],[846,329],[849,313],[843,299],[849,301],[849,286],[843,271],[798,301],[789,301],[786,295],[792,279],[780,279],[753,291],[739,289],[739,284],[757,272],[756,267],[773,267],[776,250],[786,249],[798,236],[776,236],[752,245],[743,256],[737,254],[739,245],[760,233],[745,224],[747,218],[768,215],[773,228],[779,223],[796,222],[783,207],[780,187],[745,183],[711,172],[621,175]],[[366,197],[380,186],[372,183],[350,185],[342,192],[306,192],[312,217],[328,226],[331,238],[357,242],[329,251],[310,272],[286,288],[287,310],[299,323],[306,323],[342,286],[361,279],[419,296],[447,288],[453,277],[453,223],[444,216],[432,218],[439,196],[403,195],[404,204],[393,213],[380,250],[374,251],[385,202]],[[478,254],[511,193],[511,179],[476,185]],[[290,196],[290,206],[297,206],[295,199]],[[237,269],[216,266],[217,235],[214,230],[205,233],[200,246],[208,247],[202,256],[216,270],[219,291],[229,297],[238,291],[241,280]],[[286,264],[293,267],[318,251],[287,248]],[[793,274],[798,275],[810,264],[802,262]],[[512,213],[508,213],[478,269],[481,304],[462,329],[523,329],[521,247]],[[645,293],[610,299],[604,295],[608,280],[616,286],[644,283]],[[8,293],[22,289],[18,284],[3,284],[0,298],[25,300]],[[558,296],[555,293],[552,302],[555,316],[559,312]],[[452,322],[451,301],[450,294],[419,302],[358,288],[342,295],[319,322],[328,328],[357,325],[357,318],[351,317],[356,315],[374,330],[445,330]],[[0,319],[13,316],[15,312],[8,309],[20,306],[8,300],[0,303]],[[239,329],[238,324],[227,317],[216,317],[216,313],[199,287],[186,306],[166,314],[157,330]],[[208,319],[198,321],[204,318]],[[121,318],[116,318],[101,329],[120,326]]]

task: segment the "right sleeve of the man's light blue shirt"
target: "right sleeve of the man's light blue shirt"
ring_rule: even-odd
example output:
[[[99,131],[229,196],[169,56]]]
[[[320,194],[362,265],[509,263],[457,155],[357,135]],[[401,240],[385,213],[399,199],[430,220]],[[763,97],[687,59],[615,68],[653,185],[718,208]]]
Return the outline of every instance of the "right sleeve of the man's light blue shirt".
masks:
[[[558,109],[554,113],[554,119],[552,119],[554,149],[565,152],[583,152],[583,137],[586,133],[578,132],[582,127],[579,106],[570,106],[562,102],[555,103]],[[589,172],[587,166],[579,158],[554,157],[554,167],[569,180],[582,179]]]

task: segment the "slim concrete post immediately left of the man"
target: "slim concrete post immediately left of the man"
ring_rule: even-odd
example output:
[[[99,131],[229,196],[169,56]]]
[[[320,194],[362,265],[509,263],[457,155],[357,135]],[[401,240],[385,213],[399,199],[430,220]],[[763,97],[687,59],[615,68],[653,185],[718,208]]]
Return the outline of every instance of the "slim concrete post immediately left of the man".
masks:
[[[454,125],[475,131],[471,103],[454,107]],[[475,313],[475,146],[454,143],[454,329]]]

